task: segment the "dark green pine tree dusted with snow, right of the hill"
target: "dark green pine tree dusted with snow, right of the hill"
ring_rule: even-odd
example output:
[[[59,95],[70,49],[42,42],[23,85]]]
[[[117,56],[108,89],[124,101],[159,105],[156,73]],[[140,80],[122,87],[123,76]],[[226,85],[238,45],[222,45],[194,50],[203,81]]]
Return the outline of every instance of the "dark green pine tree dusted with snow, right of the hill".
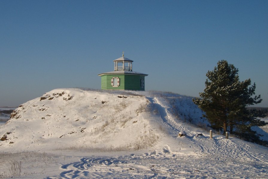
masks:
[[[255,83],[250,86],[250,79],[240,82],[238,69],[225,60],[219,61],[217,65],[213,71],[206,74],[206,88],[199,93],[200,98],[196,97],[193,102],[205,112],[204,117],[211,123],[212,128],[240,136],[255,134],[251,126],[268,124],[257,119],[264,117],[262,112],[246,109],[247,106],[262,101],[260,95],[252,97],[255,95]]]

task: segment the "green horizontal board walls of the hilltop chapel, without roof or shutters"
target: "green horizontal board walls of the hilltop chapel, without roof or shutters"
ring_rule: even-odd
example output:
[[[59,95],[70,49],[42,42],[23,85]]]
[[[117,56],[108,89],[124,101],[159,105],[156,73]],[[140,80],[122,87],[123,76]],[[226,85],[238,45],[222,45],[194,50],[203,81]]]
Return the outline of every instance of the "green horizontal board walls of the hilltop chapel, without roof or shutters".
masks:
[[[113,87],[111,85],[111,79],[113,77],[118,77],[120,79],[120,85],[118,87]],[[102,89],[108,90],[137,90],[144,91],[145,88],[142,88],[140,81],[144,76],[143,75],[125,75],[125,74],[112,74],[112,75],[102,75]]]

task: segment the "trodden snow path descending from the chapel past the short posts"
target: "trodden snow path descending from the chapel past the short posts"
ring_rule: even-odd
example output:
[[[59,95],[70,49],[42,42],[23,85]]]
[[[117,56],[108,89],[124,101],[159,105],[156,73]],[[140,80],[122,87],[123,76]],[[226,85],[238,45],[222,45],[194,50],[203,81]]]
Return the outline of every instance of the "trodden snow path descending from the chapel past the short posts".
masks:
[[[150,101],[155,106],[157,106],[164,124],[168,125],[173,131],[177,133],[179,133],[180,131],[185,131],[188,136],[193,136],[193,137],[188,137],[188,139],[193,138],[192,142],[194,144],[198,144],[200,148],[202,148],[202,152],[208,153],[208,154],[212,153],[214,155],[216,154],[218,158],[223,158],[223,159],[233,158],[236,160],[250,161],[254,163],[261,163],[264,165],[268,165],[268,161],[263,161],[262,159],[258,158],[258,156],[250,152],[249,145],[246,145],[244,143],[236,144],[232,142],[230,139],[225,139],[222,136],[214,137],[214,140],[209,139],[208,134],[207,135],[204,134],[204,137],[197,136],[198,133],[187,129],[181,124],[178,124],[175,118],[172,116],[172,114],[168,111],[168,108],[161,103],[161,100],[159,100],[158,97],[154,97]]]

